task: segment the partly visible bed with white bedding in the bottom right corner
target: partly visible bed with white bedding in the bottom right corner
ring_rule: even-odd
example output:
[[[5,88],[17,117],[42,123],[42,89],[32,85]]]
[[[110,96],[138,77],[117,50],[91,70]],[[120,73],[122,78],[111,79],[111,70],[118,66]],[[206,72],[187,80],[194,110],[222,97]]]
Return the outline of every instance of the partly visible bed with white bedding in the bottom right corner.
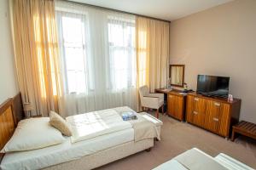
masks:
[[[212,157],[205,152],[193,148],[174,157],[170,161],[166,161],[154,170],[253,170],[241,161],[227,156],[223,153]]]

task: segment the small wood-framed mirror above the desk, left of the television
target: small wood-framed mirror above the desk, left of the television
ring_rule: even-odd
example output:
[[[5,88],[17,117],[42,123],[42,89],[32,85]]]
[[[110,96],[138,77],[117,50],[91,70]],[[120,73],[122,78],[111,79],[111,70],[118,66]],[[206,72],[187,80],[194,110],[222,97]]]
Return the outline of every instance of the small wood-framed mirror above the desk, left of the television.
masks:
[[[183,88],[185,65],[170,65],[171,86]]]

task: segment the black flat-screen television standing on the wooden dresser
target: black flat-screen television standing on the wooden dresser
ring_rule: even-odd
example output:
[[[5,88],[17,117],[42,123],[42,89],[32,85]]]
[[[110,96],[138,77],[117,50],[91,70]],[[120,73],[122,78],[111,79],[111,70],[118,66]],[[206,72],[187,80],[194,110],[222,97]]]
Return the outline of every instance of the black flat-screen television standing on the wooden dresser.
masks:
[[[229,94],[230,77],[197,76],[196,93],[206,96],[227,98]]]

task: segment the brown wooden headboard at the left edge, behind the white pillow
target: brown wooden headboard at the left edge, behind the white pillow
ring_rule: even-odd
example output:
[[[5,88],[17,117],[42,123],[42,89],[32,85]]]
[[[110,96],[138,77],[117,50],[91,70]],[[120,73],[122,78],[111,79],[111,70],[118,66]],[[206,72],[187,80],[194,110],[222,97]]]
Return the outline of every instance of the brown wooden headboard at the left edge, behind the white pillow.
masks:
[[[0,150],[12,137],[15,127],[22,118],[24,112],[20,93],[0,105]],[[0,154],[0,162],[2,158],[3,154]]]

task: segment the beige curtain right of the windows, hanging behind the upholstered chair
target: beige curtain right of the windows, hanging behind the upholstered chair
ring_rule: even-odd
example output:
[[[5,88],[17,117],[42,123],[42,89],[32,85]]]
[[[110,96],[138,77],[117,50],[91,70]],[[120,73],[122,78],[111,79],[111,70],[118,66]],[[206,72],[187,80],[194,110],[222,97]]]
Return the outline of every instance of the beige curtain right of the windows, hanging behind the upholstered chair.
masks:
[[[137,16],[137,88],[148,85],[150,92],[154,93],[155,88],[166,87],[169,26],[165,21]]]

